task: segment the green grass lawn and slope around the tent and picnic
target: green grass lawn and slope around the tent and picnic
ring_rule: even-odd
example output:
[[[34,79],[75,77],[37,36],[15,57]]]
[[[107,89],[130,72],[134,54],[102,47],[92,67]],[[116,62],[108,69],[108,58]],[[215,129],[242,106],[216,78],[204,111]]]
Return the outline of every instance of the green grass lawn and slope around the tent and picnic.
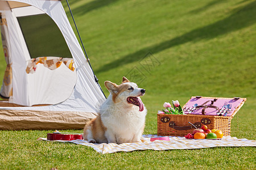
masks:
[[[69,3],[106,96],[104,81],[118,83],[122,76],[146,89],[144,134],[157,133],[156,113],[165,101],[238,96],[247,101],[238,112],[239,129],[237,116],[232,120],[231,135],[256,140],[256,1]],[[3,57],[0,62],[2,78]],[[36,141],[49,132],[0,131],[0,169],[256,169],[255,147],[102,155],[72,143]]]

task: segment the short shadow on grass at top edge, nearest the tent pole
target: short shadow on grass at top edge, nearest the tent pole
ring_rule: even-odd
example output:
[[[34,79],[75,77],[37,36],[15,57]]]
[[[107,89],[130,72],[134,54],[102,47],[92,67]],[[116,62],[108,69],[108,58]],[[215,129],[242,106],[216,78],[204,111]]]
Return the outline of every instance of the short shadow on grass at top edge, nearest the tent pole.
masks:
[[[97,8],[104,7],[106,5],[109,5],[109,4],[117,2],[117,1],[119,1],[119,0],[94,0],[89,3],[85,3],[84,5],[81,5],[77,8],[74,8],[74,9],[72,9],[72,11],[73,11],[73,14],[84,15],[87,12],[96,10]],[[73,2],[75,2],[75,1],[73,1]]]

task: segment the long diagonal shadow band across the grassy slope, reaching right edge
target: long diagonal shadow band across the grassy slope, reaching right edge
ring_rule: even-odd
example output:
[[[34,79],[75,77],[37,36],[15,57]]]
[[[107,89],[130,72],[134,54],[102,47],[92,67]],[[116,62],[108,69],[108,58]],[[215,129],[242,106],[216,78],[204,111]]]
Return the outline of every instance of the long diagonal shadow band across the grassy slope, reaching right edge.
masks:
[[[186,42],[200,41],[203,39],[213,39],[214,37],[236,31],[243,27],[248,27],[256,22],[255,7],[256,1],[251,2],[246,6],[236,8],[235,10],[233,10],[234,13],[225,19],[222,19],[216,23],[207,25],[202,28],[194,29],[188,33],[185,33],[184,35],[175,37],[174,39],[161,42],[160,44],[148,46],[147,48],[138,50],[135,53],[123,56],[111,63],[102,66],[100,69],[96,70],[96,73],[115,69],[117,67],[126,65],[127,63],[132,63],[134,61],[139,61],[148,52],[151,52],[153,54],[159,53],[162,50],[172,48],[176,45],[185,44]]]

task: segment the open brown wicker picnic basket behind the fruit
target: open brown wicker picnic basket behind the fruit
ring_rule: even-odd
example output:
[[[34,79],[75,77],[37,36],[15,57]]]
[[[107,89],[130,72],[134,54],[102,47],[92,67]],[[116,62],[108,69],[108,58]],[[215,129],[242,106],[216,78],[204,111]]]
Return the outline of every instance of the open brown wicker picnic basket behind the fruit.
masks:
[[[195,114],[158,114],[158,135],[166,136],[180,136],[183,137],[188,133],[192,133],[195,129],[194,126],[189,124],[191,122],[197,128],[201,128],[203,125],[207,125],[208,129],[218,129],[221,130],[224,135],[230,135],[230,124],[234,115],[238,112],[238,110],[245,103],[246,98],[221,98],[221,97],[201,97],[201,96],[193,96],[191,99],[183,106],[183,109],[191,103],[191,101],[199,102],[199,99],[212,101],[211,104],[199,105],[197,109],[199,112]],[[209,111],[208,108],[220,110],[219,107],[214,106],[214,101],[221,100],[229,100],[229,101],[237,101],[237,105],[234,106],[232,112],[230,112],[226,116],[214,116],[202,114],[205,111]],[[238,102],[239,100],[239,102]],[[206,102],[205,102],[206,103]],[[219,102],[220,103],[220,102]],[[231,109],[230,109],[231,110]],[[217,112],[217,111],[216,111]],[[184,112],[185,113],[185,112]],[[190,113],[190,112],[189,112]],[[216,114],[213,113],[212,114]]]

